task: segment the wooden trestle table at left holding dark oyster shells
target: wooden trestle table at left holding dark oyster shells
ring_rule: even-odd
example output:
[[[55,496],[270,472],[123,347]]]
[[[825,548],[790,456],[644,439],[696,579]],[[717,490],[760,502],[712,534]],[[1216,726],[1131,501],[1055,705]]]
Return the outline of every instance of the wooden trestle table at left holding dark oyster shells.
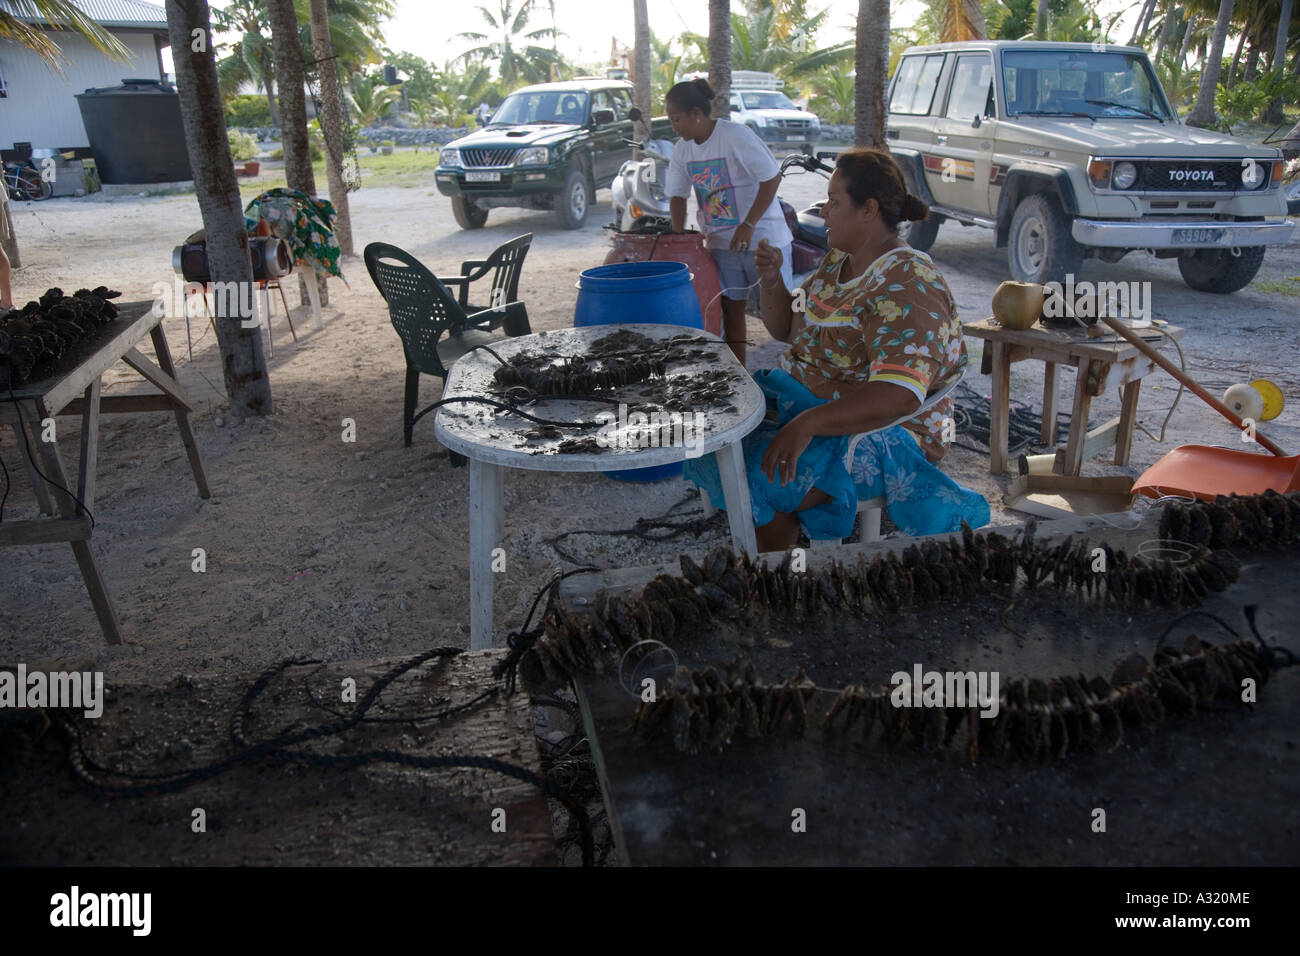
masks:
[[[30,381],[22,388],[0,393],[0,424],[13,427],[20,454],[27,466],[42,518],[32,520],[5,520],[0,523],[0,546],[36,545],[68,541],[73,546],[81,567],[86,591],[109,644],[121,644],[122,633],[117,611],[108,593],[104,576],[90,548],[91,522],[87,512],[95,510],[95,466],[99,453],[100,412],[170,411],[176,415],[181,441],[190,459],[199,497],[208,497],[208,480],[194,444],[188,415],[194,411],[185,389],[176,378],[172,352],[162,334],[162,316],[153,313],[152,302],[125,302],[118,306],[117,320],[101,334],[73,346],[72,362],[65,371]],[[157,364],[146,358],[136,343],[146,336],[153,339]],[[103,375],[118,362],[139,372],[159,390],[142,395],[100,395]],[[56,415],[81,415],[81,457],[78,463],[77,498],[68,490],[72,484],[58,454],[57,441],[42,441],[42,423]],[[57,440],[57,431],[55,432]],[[39,464],[23,450],[23,442]],[[44,472],[47,484],[36,470]],[[60,488],[61,485],[61,488]],[[56,514],[57,510],[57,514]]]

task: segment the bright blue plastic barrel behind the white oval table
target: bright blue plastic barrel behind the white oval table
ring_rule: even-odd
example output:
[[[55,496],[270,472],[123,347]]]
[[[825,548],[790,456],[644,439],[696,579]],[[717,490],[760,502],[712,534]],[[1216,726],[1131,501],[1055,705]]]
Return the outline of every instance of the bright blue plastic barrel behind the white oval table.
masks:
[[[685,263],[610,263],[578,276],[573,328],[650,323],[703,329],[705,317]],[[681,464],[607,471],[618,481],[663,481],[681,473]]]

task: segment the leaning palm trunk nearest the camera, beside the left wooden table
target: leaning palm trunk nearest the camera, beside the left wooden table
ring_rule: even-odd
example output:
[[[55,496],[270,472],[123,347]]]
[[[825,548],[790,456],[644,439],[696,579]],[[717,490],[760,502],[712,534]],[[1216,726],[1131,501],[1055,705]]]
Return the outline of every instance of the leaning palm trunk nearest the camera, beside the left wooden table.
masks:
[[[185,142],[207,237],[208,267],[214,284],[234,284],[225,287],[238,289],[238,294],[225,297],[226,308],[221,308],[218,297],[214,323],[230,414],[237,419],[269,415],[270,380],[261,352],[261,329],[256,325],[244,328],[243,323],[252,316],[252,260],[221,112],[207,0],[166,0],[166,26]],[[195,36],[207,38],[207,42],[196,43]],[[202,49],[194,49],[195,46]]]

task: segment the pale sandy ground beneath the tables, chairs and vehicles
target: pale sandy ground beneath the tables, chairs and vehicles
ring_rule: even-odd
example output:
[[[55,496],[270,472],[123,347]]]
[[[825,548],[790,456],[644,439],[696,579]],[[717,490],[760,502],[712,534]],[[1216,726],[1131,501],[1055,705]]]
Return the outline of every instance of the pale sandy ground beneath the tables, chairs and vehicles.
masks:
[[[820,196],[819,177],[792,177],[781,194],[796,206]],[[549,213],[494,209],[482,230],[463,232],[432,181],[419,189],[364,189],[351,196],[360,251],[372,241],[393,242],[436,272],[458,272],[462,259],[485,255],[520,233],[534,234],[521,281],[534,330],[572,324],[577,273],[603,260],[608,193],[588,225],[558,228]],[[200,225],[192,195],[107,200],[56,199],[14,204],[25,268],[16,298],[25,302],[48,286],[68,291],[107,284],[124,299],[151,298],[155,282],[173,278],[173,246]],[[1260,280],[1300,271],[1300,237],[1274,247]],[[1006,277],[1005,251],[988,232],[945,226],[932,250],[966,319],[989,313]],[[194,323],[195,350],[186,356],[185,321],[169,319],[166,336],[179,375],[195,403],[194,423],[212,498],[195,494],[179,437],[169,415],[114,415],[103,425],[92,548],[122,619],[126,644],[105,646],[70,549],[64,545],[6,549],[0,585],[4,657],[94,665],[116,680],[170,679],[218,669],[257,670],[291,654],[328,659],[412,653],[437,644],[468,644],[468,470],[451,468],[433,437],[433,423],[416,427],[415,445],[402,447],[403,358],[384,303],[360,256],[344,261],[350,287],[332,282],[325,330],[315,333],[295,307],[298,345],[278,306],[270,362],[274,415],[233,424],[221,388],[214,336]],[[1132,255],[1118,265],[1088,263],[1084,277],[1149,281],[1153,313],[1187,326],[1188,368],[1212,392],[1252,377],[1274,380],[1288,399],[1300,397],[1296,372],[1300,299],[1251,286],[1216,297],[1187,289],[1173,261]],[[294,303],[291,298],[291,303]],[[767,367],[779,351],[757,320],[750,367]],[[968,339],[967,382],[987,393],[979,375],[980,343]],[[1072,376],[1062,376],[1063,410]],[[124,394],[139,380],[121,367],[105,378],[105,394]],[[425,380],[432,401],[438,382]],[[1034,406],[1041,365],[1014,367],[1013,398]],[[1144,386],[1140,419],[1157,429],[1174,398],[1171,378]],[[1118,414],[1115,395],[1093,405],[1093,421]],[[355,444],[341,440],[342,419],[356,421]],[[1295,405],[1270,423],[1283,447],[1300,447]],[[65,460],[78,441],[74,419],[58,423]],[[1169,447],[1184,442],[1234,445],[1235,431],[1184,395],[1157,445],[1139,433],[1132,463],[1117,470],[1105,458],[1084,473],[1136,476]],[[13,488],[5,515],[34,516],[35,499],[6,431],[0,458]],[[985,494],[994,524],[1019,523],[1001,493],[1011,476],[988,473],[984,455],[954,450],[944,468]],[[506,574],[497,583],[497,643],[519,627],[549,571],[566,566],[547,538],[575,529],[628,528],[637,518],[666,512],[686,492],[680,480],[627,485],[601,476],[512,472],[506,481]],[[684,546],[706,548],[722,533]],[[207,551],[207,571],[191,571],[191,551]],[[625,536],[573,536],[571,551],[607,566],[646,564],[672,557],[677,542],[647,544]]]

